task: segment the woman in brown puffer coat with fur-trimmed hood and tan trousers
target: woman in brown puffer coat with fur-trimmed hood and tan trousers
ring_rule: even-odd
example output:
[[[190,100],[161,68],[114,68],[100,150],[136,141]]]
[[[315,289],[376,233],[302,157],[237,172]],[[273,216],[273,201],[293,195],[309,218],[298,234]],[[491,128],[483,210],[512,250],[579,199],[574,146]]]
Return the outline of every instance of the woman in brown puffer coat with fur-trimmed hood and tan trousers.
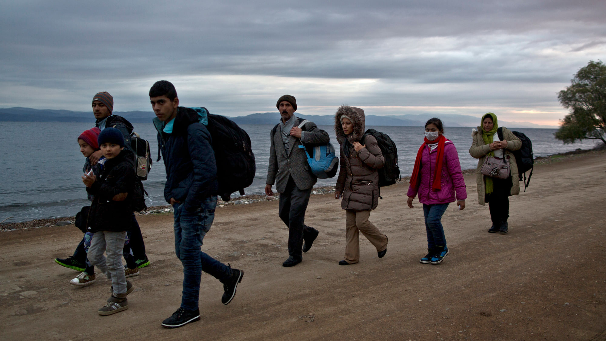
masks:
[[[339,177],[335,199],[341,198],[346,211],[345,257],[339,265],[358,263],[359,232],[377,249],[379,258],[387,252],[387,236],[368,221],[370,211],[379,204],[379,172],[385,163],[379,145],[372,135],[364,135],[364,110],[341,106],[335,113],[335,133],[341,144]]]

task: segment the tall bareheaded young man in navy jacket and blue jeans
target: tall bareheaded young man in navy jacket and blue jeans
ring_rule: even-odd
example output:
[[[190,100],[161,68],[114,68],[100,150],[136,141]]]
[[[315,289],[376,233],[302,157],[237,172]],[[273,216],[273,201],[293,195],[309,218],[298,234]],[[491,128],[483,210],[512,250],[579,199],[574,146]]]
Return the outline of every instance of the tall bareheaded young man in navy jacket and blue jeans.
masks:
[[[166,167],[164,198],[175,209],[175,252],[183,264],[181,307],[162,326],[177,328],[200,319],[202,271],[223,283],[224,305],[236,295],[244,271],[231,269],[201,251],[217,206],[217,167],[210,133],[199,123],[195,110],[179,107],[172,83],[156,82],[149,95]]]

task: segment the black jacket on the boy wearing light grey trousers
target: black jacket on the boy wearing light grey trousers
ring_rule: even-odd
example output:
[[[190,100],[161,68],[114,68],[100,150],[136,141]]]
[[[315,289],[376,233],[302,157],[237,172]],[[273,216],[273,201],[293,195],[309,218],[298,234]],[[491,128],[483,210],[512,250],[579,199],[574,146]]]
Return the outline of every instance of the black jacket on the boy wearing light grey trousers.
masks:
[[[133,152],[123,149],[115,158],[105,161],[101,174],[91,187],[93,195],[87,218],[87,231],[127,231],[133,225],[130,194],[135,188],[135,161]],[[126,200],[113,201],[116,194],[128,193]]]

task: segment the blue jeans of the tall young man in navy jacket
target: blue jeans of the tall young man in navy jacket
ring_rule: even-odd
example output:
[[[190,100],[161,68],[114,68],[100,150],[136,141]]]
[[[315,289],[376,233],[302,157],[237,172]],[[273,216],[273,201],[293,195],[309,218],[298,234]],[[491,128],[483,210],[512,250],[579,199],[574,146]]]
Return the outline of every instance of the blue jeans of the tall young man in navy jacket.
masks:
[[[198,309],[202,271],[225,282],[231,275],[229,266],[202,252],[202,239],[215,219],[217,197],[208,197],[196,212],[183,210],[183,204],[175,208],[175,252],[183,264],[183,292],[181,308]]]

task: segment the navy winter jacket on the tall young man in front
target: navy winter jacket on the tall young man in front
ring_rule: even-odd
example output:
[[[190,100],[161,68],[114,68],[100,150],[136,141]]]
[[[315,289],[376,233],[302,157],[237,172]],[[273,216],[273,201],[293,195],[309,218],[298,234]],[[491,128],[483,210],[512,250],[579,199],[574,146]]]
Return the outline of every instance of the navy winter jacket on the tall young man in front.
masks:
[[[196,211],[219,191],[210,133],[199,123],[198,113],[187,107],[178,108],[172,133],[162,131],[164,122],[158,118],[153,122],[166,168],[164,199],[170,203],[175,198],[186,211]]]

